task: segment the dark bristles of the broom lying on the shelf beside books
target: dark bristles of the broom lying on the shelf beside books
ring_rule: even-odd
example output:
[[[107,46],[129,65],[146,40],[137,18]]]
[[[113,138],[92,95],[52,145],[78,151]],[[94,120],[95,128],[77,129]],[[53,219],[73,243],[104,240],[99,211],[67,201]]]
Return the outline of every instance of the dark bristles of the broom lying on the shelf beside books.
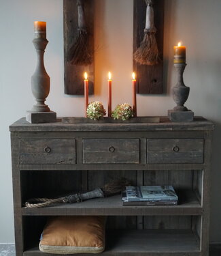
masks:
[[[105,184],[101,189],[103,190],[105,197],[110,197],[122,192],[122,190],[125,189],[125,186],[129,185],[129,180],[126,180],[124,177],[122,177],[119,180],[113,180],[112,182]]]

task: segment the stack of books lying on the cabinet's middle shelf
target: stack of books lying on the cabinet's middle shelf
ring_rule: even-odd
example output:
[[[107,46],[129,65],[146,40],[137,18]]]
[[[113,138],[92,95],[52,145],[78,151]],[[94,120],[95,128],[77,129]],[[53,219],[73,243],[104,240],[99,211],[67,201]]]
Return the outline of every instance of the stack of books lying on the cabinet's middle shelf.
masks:
[[[177,205],[173,186],[126,186],[123,205]]]

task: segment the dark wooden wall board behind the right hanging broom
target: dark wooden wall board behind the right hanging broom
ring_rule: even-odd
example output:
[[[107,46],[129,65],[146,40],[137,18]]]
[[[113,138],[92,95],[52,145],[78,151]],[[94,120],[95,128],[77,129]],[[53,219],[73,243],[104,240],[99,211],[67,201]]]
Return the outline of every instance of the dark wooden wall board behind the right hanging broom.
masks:
[[[133,53],[143,40],[143,30],[146,24],[146,3],[142,0],[134,0],[133,14]],[[139,65],[133,60],[133,70],[137,74],[138,94],[162,94],[163,93],[163,30],[164,30],[164,0],[154,1],[154,25],[156,42],[160,53],[160,63],[154,66]]]

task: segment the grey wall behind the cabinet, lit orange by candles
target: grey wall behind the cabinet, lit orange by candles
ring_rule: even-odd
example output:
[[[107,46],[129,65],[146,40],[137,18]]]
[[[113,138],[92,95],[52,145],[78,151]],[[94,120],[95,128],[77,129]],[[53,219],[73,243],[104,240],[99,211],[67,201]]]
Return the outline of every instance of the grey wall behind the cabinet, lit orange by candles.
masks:
[[[95,96],[107,106],[107,72],[113,72],[113,105],[131,103],[133,0],[95,0]],[[174,106],[173,45],[187,47],[184,79],[190,86],[189,109],[216,123],[211,200],[211,242],[221,242],[221,1],[165,0],[165,91],[138,96],[138,115],[167,115]],[[30,79],[35,70],[33,21],[47,21],[49,44],[46,70],[51,77],[48,97],[58,116],[84,115],[82,97],[63,93],[63,1],[0,0],[0,243],[13,242],[12,171],[8,126],[24,116],[34,101]]]

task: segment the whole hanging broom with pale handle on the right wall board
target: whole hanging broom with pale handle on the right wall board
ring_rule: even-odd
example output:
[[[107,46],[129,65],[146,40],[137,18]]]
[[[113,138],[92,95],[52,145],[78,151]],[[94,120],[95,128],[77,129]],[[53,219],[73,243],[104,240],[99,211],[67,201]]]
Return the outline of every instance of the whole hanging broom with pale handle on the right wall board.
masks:
[[[159,60],[158,46],[155,38],[156,27],[154,26],[154,8],[152,0],[146,1],[146,27],[143,41],[134,53],[134,59],[141,65],[156,65]]]

